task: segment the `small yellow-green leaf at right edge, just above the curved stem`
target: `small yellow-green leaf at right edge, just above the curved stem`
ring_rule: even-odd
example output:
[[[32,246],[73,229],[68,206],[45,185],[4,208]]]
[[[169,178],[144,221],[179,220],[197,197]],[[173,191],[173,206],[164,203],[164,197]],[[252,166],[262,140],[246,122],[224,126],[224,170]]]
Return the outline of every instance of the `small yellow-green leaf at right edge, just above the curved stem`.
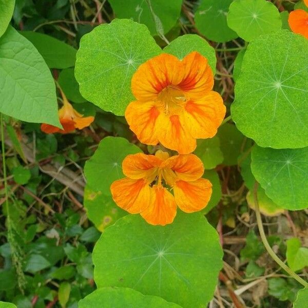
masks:
[[[286,241],[286,261],[294,272],[308,266],[308,248],[301,247],[301,242],[298,238]]]

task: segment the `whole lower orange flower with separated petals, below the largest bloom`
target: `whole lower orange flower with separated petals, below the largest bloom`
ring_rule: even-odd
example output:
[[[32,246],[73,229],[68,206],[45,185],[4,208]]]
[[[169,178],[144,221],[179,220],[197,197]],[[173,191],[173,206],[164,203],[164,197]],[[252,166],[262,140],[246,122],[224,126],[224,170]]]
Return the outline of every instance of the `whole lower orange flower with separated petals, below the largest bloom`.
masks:
[[[140,214],[148,223],[171,223],[177,206],[186,213],[204,208],[211,196],[211,183],[201,178],[203,164],[194,154],[169,157],[157,151],[156,155],[138,153],[123,161],[126,178],[111,184],[115,203],[131,214]],[[172,187],[174,195],[162,185]]]

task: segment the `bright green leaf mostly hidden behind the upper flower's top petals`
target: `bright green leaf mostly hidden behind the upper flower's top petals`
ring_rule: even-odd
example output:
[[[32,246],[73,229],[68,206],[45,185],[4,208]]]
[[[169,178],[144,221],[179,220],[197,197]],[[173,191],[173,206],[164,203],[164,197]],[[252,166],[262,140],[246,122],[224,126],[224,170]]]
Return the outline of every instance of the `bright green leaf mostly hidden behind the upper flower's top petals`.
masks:
[[[179,36],[164,48],[164,52],[170,53],[183,60],[185,55],[192,51],[198,51],[205,56],[212,71],[216,72],[216,53],[204,38],[196,34],[184,34]]]

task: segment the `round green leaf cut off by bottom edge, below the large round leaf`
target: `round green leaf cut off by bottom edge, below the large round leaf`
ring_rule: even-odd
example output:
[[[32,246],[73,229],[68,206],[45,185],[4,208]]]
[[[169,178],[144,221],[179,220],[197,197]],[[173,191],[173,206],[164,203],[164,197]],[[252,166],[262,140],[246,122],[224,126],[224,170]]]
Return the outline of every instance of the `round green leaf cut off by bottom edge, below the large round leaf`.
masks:
[[[145,296],[128,287],[102,287],[95,290],[78,303],[79,308],[180,308],[158,296]],[[1,308],[1,306],[0,306]]]

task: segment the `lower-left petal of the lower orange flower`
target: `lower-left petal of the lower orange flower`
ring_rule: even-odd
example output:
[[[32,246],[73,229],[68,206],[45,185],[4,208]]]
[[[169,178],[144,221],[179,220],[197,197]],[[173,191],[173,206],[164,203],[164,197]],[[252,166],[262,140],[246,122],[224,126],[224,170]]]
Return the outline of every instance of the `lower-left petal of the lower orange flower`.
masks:
[[[114,202],[130,214],[140,213],[149,206],[150,187],[144,179],[114,181],[110,190]]]

